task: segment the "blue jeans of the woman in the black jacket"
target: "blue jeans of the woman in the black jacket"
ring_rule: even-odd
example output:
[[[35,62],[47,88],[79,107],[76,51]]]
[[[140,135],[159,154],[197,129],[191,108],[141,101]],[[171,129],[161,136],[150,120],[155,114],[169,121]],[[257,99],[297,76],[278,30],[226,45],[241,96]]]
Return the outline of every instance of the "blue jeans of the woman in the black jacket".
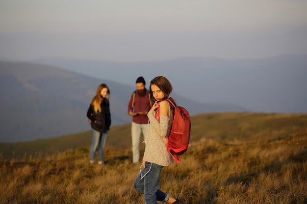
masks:
[[[106,138],[108,136],[108,129],[105,128],[103,133],[92,129],[92,144],[90,148],[90,161],[95,160],[95,153],[98,148],[98,161],[103,161],[103,152]]]

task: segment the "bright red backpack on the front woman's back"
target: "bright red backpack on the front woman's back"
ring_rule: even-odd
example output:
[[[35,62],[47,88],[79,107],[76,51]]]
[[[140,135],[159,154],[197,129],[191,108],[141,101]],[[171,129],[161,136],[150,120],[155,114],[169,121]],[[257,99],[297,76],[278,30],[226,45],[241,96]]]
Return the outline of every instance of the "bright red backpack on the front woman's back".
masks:
[[[175,104],[170,99],[166,100],[168,100],[175,107],[172,130],[170,135],[166,137],[166,148],[167,151],[172,155],[173,159],[179,163],[179,155],[182,155],[188,149],[190,142],[190,114],[187,110],[185,110],[185,108],[181,106],[175,106]]]

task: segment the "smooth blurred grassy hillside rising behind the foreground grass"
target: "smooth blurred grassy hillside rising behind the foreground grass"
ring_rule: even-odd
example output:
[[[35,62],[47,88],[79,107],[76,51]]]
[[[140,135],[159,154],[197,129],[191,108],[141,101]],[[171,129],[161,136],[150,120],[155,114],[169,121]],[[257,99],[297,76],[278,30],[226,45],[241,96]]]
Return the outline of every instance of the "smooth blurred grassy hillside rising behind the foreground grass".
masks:
[[[257,141],[260,138],[306,132],[307,114],[208,113],[192,116],[191,125],[191,143],[203,138]],[[0,159],[44,158],[78,147],[88,149],[90,143],[90,131],[29,142],[0,143]],[[130,124],[111,127],[106,147],[130,149]]]

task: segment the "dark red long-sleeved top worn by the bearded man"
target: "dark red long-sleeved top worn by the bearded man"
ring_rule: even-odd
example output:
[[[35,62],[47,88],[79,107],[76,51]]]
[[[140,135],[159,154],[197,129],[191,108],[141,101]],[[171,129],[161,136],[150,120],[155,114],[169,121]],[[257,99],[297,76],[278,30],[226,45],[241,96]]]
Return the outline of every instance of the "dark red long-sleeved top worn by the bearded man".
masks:
[[[132,102],[133,102],[133,93],[135,93],[134,96],[134,106],[132,108]],[[137,112],[148,112],[151,109],[150,106],[150,99],[149,99],[149,91],[146,90],[146,94],[144,96],[139,96],[139,94],[137,94],[137,91],[134,91],[131,94],[130,97],[130,101],[128,104],[128,113],[130,110],[132,110],[133,113],[137,113]],[[147,114],[141,114],[141,115],[135,115],[132,117],[132,121],[137,123],[137,124],[147,124],[148,123],[148,116]]]

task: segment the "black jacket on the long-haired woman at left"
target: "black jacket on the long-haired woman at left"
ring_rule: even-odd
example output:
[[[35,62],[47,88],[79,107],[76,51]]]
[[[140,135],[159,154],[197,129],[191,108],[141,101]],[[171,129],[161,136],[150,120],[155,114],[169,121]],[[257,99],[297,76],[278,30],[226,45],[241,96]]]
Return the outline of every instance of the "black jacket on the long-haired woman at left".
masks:
[[[103,98],[101,104],[101,112],[95,113],[93,104],[87,110],[86,116],[90,119],[92,129],[103,133],[104,129],[110,130],[111,126],[111,114],[110,114],[110,104],[106,98]],[[95,123],[96,121],[96,123]]]

